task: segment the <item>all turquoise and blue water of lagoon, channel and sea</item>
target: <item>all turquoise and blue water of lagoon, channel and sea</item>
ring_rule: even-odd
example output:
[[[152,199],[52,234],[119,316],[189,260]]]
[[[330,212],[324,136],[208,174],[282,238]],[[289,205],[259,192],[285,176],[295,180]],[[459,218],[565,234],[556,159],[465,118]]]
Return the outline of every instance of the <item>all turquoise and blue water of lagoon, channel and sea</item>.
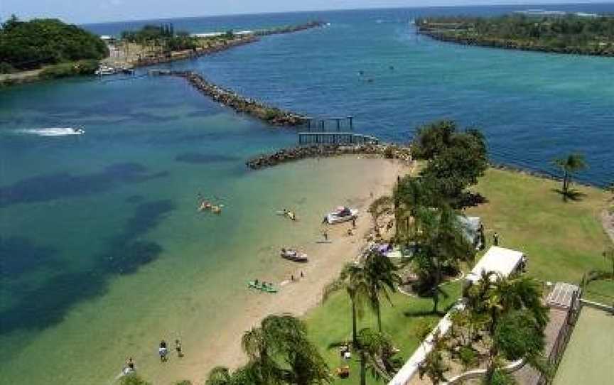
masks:
[[[578,10],[591,7],[608,9]],[[458,119],[483,128],[496,161],[548,171],[552,157],[582,151],[591,165],[583,180],[613,180],[613,60],[438,43],[408,23],[424,13],[505,10],[316,14],[331,25],[172,67],[306,114],[352,114],[357,130],[387,140],[406,141],[430,119]],[[306,16],[193,18],[176,29]],[[66,126],[86,134],[41,131]],[[274,264],[274,249],[316,236],[308,224],[347,197],[330,188],[335,175],[324,163],[244,167],[295,141],[293,131],[237,116],[181,79],[0,90],[0,345],[10,347],[0,352],[3,379],[99,383],[126,354],[155,359],[161,335],[204,340],[223,327],[245,300],[236,283],[279,278],[288,266]],[[336,183],[348,188],[359,176],[348,169]],[[198,193],[224,204],[223,214],[195,212]],[[298,207],[308,220],[286,227],[271,215],[280,207]]]

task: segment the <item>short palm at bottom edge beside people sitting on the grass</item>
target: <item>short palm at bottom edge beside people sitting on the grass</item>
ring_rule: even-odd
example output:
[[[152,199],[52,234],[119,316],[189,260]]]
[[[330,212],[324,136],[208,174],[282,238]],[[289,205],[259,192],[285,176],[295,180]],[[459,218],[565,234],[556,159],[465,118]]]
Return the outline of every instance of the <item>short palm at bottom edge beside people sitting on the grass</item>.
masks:
[[[402,365],[402,360],[394,357],[396,349],[389,338],[368,327],[358,333],[356,349],[360,356],[360,385],[367,384],[367,369],[376,379],[390,381]]]

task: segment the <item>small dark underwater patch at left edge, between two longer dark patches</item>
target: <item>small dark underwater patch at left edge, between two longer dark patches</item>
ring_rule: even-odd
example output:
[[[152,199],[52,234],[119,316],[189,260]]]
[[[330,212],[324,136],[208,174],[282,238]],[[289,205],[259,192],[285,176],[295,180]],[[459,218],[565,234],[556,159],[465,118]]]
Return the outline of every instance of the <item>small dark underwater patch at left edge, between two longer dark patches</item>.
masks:
[[[15,279],[43,266],[57,264],[58,250],[38,246],[24,237],[0,237],[0,276]]]

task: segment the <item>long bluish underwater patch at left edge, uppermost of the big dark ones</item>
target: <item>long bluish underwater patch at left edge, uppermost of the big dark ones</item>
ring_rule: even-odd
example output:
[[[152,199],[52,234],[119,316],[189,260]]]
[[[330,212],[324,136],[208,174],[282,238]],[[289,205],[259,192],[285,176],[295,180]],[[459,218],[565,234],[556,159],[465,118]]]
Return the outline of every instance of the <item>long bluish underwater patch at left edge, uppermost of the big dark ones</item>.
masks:
[[[0,207],[103,193],[122,184],[141,183],[168,175],[166,171],[159,173],[146,171],[147,168],[139,163],[117,163],[99,173],[85,175],[55,173],[36,176],[0,188]]]

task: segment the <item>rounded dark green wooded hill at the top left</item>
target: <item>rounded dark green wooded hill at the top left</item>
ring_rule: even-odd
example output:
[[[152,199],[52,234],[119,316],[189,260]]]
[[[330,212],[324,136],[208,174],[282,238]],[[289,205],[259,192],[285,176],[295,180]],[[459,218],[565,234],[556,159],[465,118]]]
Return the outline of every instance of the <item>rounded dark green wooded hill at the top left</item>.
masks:
[[[98,36],[58,19],[19,21],[13,16],[0,29],[0,73],[107,55],[107,45]]]

